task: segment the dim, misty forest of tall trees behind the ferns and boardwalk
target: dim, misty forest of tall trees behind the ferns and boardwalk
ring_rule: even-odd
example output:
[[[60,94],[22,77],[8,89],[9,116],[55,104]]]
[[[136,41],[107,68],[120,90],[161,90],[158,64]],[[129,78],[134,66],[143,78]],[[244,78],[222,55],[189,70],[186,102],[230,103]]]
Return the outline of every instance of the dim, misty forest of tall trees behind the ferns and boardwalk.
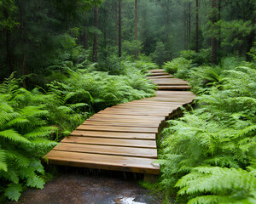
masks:
[[[137,53],[161,65],[183,49],[209,49],[212,40],[218,60],[253,47],[255,10],[247,0],[4,0],[0,10],[2,80],[13,71],[61,71],[63,61],[99,62],[109,71],[117,55]]]

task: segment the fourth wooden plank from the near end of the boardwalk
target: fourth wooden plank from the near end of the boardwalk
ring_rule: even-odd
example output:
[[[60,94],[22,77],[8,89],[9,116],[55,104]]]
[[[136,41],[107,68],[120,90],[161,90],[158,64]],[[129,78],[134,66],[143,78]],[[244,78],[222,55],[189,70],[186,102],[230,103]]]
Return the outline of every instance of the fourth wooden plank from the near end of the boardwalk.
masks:
[[[70,136],[109,138],[109,139],[155,139],[155,133],[119,133],[119,132],[97,132],[97,131],[79,131],[74,130]]]

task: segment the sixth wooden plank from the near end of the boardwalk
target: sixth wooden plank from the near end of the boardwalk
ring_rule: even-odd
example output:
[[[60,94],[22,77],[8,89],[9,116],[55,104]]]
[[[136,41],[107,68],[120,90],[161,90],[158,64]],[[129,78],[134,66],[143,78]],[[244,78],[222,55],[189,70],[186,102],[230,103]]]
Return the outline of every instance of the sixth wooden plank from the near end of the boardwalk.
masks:
[[[159,127],[159,124],[143,123],[143,122],[96,122],[88,121],[83,122],[84,125],[96,125],[96,126],[123,126],[123,127]]]

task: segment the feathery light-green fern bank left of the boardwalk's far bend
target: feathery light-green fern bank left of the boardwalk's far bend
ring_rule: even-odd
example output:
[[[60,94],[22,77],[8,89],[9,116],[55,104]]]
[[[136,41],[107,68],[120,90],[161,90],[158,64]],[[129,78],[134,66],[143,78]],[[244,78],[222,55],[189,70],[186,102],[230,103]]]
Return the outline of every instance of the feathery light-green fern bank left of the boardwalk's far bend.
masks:
[[[62,86],[72,92],[84,92],[84,102],[92,111],[100,111],[108,106],[143,99],[154,95],[154,85],[137,70],[126,75],[113,76],[107,72],[79,70],[72,72]]]

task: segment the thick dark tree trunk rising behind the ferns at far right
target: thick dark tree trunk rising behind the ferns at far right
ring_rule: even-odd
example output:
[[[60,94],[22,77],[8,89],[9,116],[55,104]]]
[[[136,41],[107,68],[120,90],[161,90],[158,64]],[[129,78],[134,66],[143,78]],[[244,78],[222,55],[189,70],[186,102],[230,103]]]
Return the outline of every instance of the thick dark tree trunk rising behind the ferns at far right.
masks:
[[[213,26],[213,30],[214,30],[214,24],[217,21],[216,18],[216,1],[217,0],[212,0],[212,26]],[[211,57],[211,62],[212,65],[217,65],[217,38],[213,36],[213,30],[212,30],[212,57]]]

